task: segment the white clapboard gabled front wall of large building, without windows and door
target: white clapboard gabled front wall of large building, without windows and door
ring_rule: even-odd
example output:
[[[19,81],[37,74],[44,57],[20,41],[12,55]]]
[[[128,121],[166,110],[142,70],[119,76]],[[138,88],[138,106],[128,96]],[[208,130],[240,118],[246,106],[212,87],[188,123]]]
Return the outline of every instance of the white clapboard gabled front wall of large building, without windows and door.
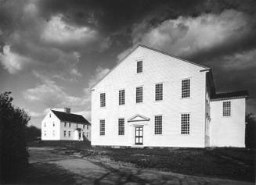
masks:
[[[143,61],[143,73],[136,62]],[[143,146],[205,147],[206,72],[203,67],[139,47],[92,91],[92,145],[135,145],[135,125],[144,126]],[[190,79],[190,98],[181,98],[182,80]],[[164,84],[164,100],[155,101],[155,84]],[[143,102],[135,103],[135,88],[143,87]],[[125,105],[118,105],[118,91],[125,89]],[[106,93],[106,107],[99,94]],[[190,113],[190,134],[181,134],[181,113]],[[136,114],[149,122],[127,120]],[[154,116],[163,116],[163,133],[154,134]],[[118,118],[124,118],[124,136],[118,135]],[[105,119],[106,135],[99,135],[99,119]]]

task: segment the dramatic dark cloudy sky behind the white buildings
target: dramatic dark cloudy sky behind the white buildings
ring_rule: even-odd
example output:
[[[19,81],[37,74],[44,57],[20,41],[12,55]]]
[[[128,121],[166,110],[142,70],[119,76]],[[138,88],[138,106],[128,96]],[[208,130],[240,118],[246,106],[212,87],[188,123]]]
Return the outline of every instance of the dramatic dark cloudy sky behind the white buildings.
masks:
[[[213,69],[218,92],[248,90],[256,113],[256,1],[0,0],[0,91],[31,124],[71,107],[136,44]]]

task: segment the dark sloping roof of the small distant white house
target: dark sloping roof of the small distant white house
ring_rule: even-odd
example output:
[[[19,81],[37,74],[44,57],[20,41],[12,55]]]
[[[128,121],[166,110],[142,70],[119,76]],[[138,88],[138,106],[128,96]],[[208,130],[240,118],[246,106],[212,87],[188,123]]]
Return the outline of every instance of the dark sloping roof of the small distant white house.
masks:
[[[65,122],[73,122],[73,123],[83,123],[86,125],[91,125],[83,116],[78,114],[72,114],[72,113],[66,113],[66,112],[60,112],[51,110],[57,118],[59,118],[61,121]]]

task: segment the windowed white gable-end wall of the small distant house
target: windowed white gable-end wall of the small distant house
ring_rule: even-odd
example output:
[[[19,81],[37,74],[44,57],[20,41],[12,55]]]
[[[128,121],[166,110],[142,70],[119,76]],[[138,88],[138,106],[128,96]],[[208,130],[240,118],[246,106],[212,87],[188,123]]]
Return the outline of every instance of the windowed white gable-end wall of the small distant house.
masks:
[[[41,140],[59,140],[59,128],[59,119],[50,111],[41,121]]]

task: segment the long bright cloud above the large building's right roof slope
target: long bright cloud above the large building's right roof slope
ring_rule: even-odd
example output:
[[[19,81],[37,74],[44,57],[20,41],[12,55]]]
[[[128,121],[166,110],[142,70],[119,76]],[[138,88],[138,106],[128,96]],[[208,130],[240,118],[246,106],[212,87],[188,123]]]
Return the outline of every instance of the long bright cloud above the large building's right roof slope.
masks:
[[[228,41],[240,40],[251,31],[249,16],[233,9],[197,17],[179,16],[157,27],[145,27],[148,27],[146,22],[135,24],[133,44],[146,44],[183,57],[221,47]]]

